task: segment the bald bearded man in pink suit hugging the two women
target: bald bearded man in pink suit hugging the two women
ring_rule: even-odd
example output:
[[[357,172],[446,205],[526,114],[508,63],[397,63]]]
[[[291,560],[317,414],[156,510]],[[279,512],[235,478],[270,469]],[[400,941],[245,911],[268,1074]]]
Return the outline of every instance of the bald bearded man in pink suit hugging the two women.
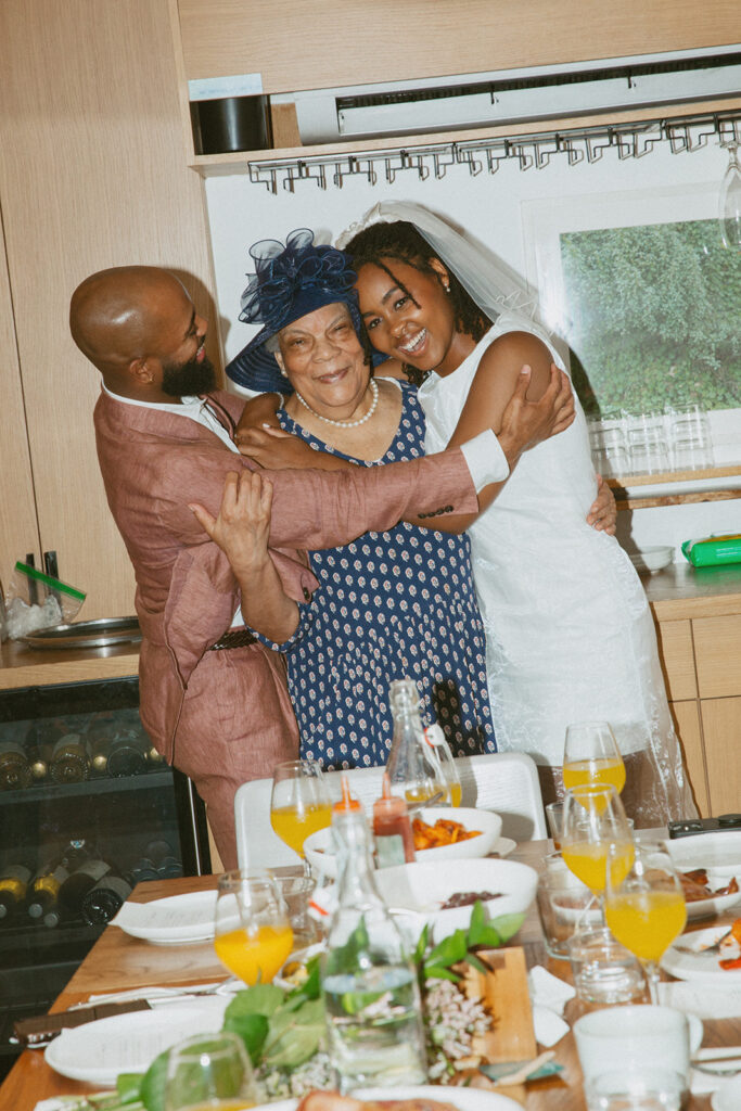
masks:
[[[237,788],[298,752],[282,660],[244,629],[249,599],[189,508],[216,516],[227,476],[254,469],[233,442],[244,402],[214,389],[207,321],[164,270],[92,274],[72,296],[70,329],[102,374],[96,440],[137,579],[141,719],[196,783],[223,864],[234,868]],[[318,585],[304,549],[348,543],[418,513],[475,512],[477,490],[505,479],[531,442],[565,428],[568,380],[534,404],[522,378],[499,442],[484,432],[462,449],[387,467],[261,472],[273,488],[270,554],[289,598],[306,604]]]

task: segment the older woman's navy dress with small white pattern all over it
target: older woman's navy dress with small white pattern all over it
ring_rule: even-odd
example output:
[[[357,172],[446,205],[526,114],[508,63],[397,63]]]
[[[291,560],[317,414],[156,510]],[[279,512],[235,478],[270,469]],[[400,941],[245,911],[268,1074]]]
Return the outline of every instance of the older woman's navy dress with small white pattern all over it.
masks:
[[[353,459],[360,466],[424,454],[415,390],[395,384],[402,391],[397,436],[382,459]],[[279,419],[314,450],[341,454],[284,410]],[[309,557],[320,589],[301,607],[290,641],[264,641],[286,652],[301,755],[328,769],[384,764],[393,731],[389,684],[407,678],[417,682],[423,723],[438,721],[453,755],[494,752],[468,537],[402,521]]]

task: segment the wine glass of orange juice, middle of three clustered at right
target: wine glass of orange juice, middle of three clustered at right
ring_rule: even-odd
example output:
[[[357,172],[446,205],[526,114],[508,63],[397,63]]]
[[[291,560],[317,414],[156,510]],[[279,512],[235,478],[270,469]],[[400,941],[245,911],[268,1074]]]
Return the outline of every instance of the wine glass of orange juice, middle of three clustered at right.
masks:
[[[604,909],[608,849],[618,880],[633,862],[633,839],[622,802],[612,784],[575,787],[563,799],[561,853],[568,868],[585,883]]]

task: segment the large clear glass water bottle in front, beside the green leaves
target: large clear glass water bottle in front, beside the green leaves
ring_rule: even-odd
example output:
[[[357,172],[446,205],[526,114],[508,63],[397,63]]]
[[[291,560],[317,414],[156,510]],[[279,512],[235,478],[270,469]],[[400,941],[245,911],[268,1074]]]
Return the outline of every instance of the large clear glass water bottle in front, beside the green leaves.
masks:
[[[371,834],[343,781],[332,813],[338,908],[322,958],[329,1052],[342,1093],[427,1081],[417,972],[373,880]]]

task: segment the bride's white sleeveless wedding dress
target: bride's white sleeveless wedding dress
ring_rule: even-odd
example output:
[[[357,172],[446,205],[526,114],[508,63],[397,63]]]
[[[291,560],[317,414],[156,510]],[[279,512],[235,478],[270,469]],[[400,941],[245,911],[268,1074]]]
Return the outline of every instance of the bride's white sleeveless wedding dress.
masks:
[[[419,391],[428,452],[450,440],[489,344],[523,329],[547,342],[520,314],[504,312],[453,373],[430,374]],[[633,809],[637,825],[664,824],[695,808],[645,593],[614,537],[587,524],[595,492],[577,400],[573,424],[525,451],[469,529],[497,747],[555,768],[569,723],[609,721],[623,755],[643,752],[651,764]]]

